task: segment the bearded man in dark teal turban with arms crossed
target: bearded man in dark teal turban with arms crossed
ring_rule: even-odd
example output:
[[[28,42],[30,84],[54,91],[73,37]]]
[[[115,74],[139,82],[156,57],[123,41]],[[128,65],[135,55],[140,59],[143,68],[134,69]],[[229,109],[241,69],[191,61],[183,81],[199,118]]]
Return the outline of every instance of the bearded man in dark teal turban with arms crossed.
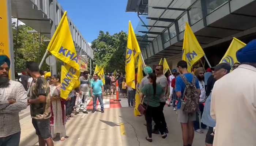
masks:
[[[0,146],[19,146],[19,111],[27,107],[26,93],[20,82],[8,77],[10,59],[0,55]]]

